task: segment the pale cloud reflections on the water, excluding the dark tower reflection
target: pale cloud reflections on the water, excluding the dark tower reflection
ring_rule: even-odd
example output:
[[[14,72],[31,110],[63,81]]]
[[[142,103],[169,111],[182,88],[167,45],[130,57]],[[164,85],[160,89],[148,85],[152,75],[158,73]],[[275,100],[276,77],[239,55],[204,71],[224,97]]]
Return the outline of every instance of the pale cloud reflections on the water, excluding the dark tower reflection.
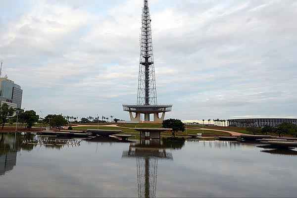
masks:
[[[186,142],[181,149],[170,149],[174,161],[158,161],[156,196],[297,194],[296,157],[263,153],[255,145],[211,144]],[[136,197],[136,161],[121,158],[129,146],[83,142],[61,150],[21,150],[13,171],[0,179],[1,195]]]

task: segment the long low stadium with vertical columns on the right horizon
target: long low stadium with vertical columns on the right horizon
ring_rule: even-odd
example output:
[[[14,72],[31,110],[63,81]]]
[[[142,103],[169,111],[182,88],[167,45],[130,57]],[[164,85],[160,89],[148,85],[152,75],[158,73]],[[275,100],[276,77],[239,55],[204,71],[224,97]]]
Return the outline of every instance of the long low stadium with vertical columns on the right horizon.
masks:
[[[297,125],[297,119],[292,118],[247,118],[228,120],[230,127],[276,127],[282,123],[293,123]]]

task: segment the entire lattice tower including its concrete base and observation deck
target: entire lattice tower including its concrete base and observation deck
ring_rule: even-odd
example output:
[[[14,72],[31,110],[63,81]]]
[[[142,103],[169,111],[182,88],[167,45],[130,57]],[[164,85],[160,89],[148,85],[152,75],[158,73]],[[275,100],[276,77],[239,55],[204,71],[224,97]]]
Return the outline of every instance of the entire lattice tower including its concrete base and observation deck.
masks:
[[[141,114],[144,114],[145,122],[162,123],[165,117],[165,112],[171,111],[172,105],[158,104],[157,101],[150,23],[151,19],[149,15],[148,0],[144,0],[137,103],[132,105],[123,104],[123,110],[130,113],[131,121],[141,122]],[[134,116],[133,113],[136,115]],[[162,113],[161,117],[159,117],[159,113]],[[150,114],[154,115],[153,121],[149,119]]]

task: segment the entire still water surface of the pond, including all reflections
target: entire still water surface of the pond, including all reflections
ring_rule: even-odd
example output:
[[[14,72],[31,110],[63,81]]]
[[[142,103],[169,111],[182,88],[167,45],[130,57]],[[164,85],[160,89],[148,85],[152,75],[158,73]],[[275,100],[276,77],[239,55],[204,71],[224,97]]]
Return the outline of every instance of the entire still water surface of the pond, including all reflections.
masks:
[[[26,136],[0,135],[0,197],[297,195],[296,150],[225,141],[46,147],[21,144],[38,139]]]

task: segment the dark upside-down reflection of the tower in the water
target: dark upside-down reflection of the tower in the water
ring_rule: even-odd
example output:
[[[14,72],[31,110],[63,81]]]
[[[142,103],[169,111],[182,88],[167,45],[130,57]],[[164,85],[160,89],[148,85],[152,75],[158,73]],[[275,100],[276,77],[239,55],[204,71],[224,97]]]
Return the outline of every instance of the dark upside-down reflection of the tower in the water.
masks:
[[[173,160],[172,153],[166,152],[159,140],[142,140],[123,151],[122,158],[136,158],[138,197],[156,197],[158,160]]]

